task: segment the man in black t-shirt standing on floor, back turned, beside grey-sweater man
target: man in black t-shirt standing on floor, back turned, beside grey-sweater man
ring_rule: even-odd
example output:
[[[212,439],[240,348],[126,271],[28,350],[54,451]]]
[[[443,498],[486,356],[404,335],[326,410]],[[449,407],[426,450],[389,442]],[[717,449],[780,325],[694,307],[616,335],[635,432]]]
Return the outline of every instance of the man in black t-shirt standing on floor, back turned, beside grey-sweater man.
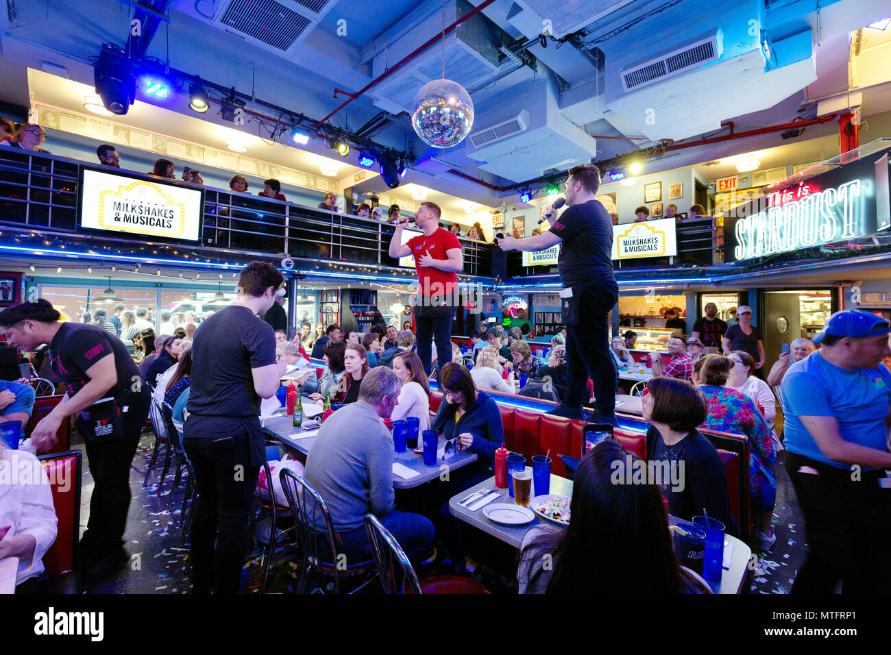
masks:
[[[260,398],[279,388],[275,335],[260,315],[284,293],[275,266],[251,262],[238,293],[209,316],[192,341],[192,387],[183,426],[185,453],[198,485],[192,525],[192,592],[236,594],[248,545],[257,473],[266,459]]]

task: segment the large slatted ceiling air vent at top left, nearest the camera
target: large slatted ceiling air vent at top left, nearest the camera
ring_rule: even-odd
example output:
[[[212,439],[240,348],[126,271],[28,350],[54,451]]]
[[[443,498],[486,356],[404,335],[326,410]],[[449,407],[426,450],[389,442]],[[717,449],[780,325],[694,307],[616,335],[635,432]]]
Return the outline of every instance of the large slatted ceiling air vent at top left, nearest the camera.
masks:
[[[290,53],[337,0],[224,0],[214,22],[274,53]]]

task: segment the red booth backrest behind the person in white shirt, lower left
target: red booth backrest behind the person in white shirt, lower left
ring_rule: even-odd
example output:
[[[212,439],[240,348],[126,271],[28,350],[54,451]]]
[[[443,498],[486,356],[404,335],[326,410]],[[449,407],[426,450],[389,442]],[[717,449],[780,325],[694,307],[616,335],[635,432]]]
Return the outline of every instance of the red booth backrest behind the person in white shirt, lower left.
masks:
[[[80,532],[80,479],[83,454],[79,450],[37,457],[53,487],[56,539],[44,555],[47,576],[74,570]]]

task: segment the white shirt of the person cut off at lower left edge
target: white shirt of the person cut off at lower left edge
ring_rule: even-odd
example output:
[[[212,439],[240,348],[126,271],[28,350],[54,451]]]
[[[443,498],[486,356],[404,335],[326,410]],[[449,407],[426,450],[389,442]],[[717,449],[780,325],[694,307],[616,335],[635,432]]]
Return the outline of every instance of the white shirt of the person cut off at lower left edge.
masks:
[[[57,523],[53,487],[40,461],[23,450],[4,450],[0,456],[0,527],[10,526],[7,537],[31,535],[37,541],[33,557],[19,559],[16,585],[44,572],[43,558],[55,541]]]

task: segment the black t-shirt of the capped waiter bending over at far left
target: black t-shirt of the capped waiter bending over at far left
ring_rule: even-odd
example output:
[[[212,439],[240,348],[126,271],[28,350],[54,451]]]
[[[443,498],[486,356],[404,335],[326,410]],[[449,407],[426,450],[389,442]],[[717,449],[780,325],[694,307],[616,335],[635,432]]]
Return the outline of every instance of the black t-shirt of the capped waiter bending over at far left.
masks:
[[[142,378],[133,356],[123,341],[98,325],[61,323],[50,344],[50,365],[56,378],[68,390],[69,397],[90,381],[86,371],[107,356],[114,357],[118,381],[104,397],[117,396],[125,389],[133,389],[134,382]]]

